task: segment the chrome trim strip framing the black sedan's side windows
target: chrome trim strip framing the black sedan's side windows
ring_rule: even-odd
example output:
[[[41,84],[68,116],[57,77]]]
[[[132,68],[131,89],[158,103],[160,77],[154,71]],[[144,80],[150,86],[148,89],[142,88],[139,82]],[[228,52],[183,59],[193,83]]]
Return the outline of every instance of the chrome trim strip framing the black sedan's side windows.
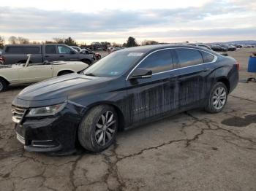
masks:
[[[138,66],[140,65],[140,63],[142,63],[146,58],[148,58],[149,55],[153,54],[154,52],[158,52],[158,51],[161,51],[161,50],[170,50],[170,49],[193,49],[193,50],[198,50],[198,51],[203,51],[203,52],[206,52],[208,54],[211,54],[214,56],[214,60],[211,61],[211,62],[208,62],[208,63],[214,63],[217,61],[218,57],[217,55],[214,55],[212,54],[211,52],[208,52],[208,51],[205,51],[205,50],[200,50],[198,48],[192,48],[192,47],[169,47],[169,48],[162,48],[162,49],[159,49],[159,50],[154,50],[153,52],[150,52],[148,55],[146,55],[130,72],[129,74],[127,75],[127,81],[130,77],[130,75],[132,74],[133,71],[135,71],[135,69],[138,68]],[[171,69],[171,70],[167,70],[167,71],[160,71],[160,72],[157,72],[155,74],[152,74],[152,76],[154,75],[157,75],[157,74],[162,74],[162,73],[165,73],[165,72],[169,72],[169,71],[176,71],[176,70],[179,70],[179,69],[187,69],[187,68],[190,68],[190,67],[195,67],[195,66],[200,66],[200,65],[203,65],[203,64],[207,64],[207,63],[199,63],[199,64],[196,64],[196,65],[193,65],[193,66],[186,66],[186,67],[183,67],[183,68],[178,68],[178,69]]]

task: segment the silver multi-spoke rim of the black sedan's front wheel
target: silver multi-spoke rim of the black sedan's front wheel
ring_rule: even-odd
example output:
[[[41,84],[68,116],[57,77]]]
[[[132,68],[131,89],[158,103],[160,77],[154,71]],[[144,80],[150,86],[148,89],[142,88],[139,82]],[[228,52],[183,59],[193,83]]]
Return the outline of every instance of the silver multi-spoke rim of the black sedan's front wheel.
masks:
[[[113,112],[103,113],[96,124],[95,139],[97,144],[105,146],[113,138],[116,132],[116,118]]]

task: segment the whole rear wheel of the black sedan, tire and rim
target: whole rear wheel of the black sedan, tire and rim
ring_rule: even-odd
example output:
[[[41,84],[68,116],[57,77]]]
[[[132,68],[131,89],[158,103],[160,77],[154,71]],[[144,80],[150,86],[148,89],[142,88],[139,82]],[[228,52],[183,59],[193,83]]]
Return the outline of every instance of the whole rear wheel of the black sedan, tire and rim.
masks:
[[[212,88],[207,98],[205,110],[210,113],[218,113],[227,104],[227,87],[222,82],[217,82]]]

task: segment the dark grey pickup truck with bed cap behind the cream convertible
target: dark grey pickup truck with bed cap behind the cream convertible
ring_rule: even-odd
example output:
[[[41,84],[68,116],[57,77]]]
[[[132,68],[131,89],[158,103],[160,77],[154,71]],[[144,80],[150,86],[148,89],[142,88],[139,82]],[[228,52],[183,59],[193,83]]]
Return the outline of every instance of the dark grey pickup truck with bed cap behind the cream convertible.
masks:
[[[65,44],[7,44],[2,52],[4,64],[26,63],[28,54],[32,54],[30,63],[44,61],[82,61],[94,63],[94,55],[80,54]]]

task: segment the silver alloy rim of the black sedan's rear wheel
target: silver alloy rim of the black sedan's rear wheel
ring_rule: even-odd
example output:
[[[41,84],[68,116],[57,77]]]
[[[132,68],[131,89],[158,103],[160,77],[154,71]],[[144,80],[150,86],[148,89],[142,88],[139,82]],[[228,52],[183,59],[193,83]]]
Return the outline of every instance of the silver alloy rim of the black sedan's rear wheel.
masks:
[[[225,105],[227,101],[227,93],[224,87],[218,87],[214,91],[214,95],[211,99],[212,105],[215,109],[219,110],[222,109],[222,107]]]

